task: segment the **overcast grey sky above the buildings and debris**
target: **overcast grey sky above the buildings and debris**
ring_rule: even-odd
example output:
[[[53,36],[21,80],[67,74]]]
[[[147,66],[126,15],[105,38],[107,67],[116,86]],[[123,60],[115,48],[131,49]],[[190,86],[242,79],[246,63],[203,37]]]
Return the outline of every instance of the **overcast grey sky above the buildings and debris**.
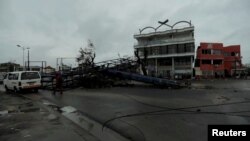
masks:
[[[240,44],[243,63],[250,63],[249,7],[249,0],[0,0],[0,63],[22,64],[19,44],[31,48],[31,60],[55,66],[58,57],[76,57],[88,39],[96,62],[132,56],[133,34],[166,19],[191,20],[196,48]]]

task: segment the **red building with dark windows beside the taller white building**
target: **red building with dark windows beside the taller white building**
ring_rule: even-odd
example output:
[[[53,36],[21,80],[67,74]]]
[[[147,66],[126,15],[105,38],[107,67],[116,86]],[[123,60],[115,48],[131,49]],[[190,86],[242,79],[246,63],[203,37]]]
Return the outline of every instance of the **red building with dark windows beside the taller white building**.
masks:
[[[196,77],[229,77],[241,72],[240,45],[200,43],[195,61]]]

